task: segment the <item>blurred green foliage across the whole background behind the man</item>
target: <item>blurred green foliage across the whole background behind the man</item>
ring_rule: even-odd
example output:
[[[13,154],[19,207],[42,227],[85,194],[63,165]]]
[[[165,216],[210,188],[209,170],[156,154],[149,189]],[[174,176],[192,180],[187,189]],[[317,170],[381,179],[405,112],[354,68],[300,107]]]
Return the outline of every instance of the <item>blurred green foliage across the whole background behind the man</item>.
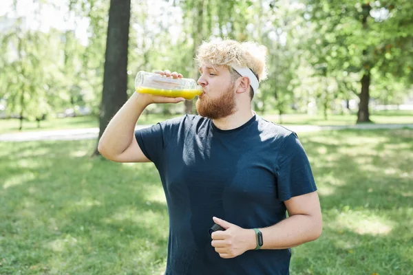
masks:
[[[47,32],[27,28],[24,17],[15,17],[15,6],[0,19],[0,24],[12,22],[0,33],[0,98],[7,104],[6,115],[35,120],[78,107],[89,107],[97,115],[109,2],[41,3],[36,12],[42,7],[67,8],[65,22],[74,25],[67,30],[52,26]],[[283,114],[314,108],[326,117],[348,112],[342,102],[358,100],[364,72],[372,76],[374,102],[400,104],[411,92],[410,1],[146,0],[132,1],[131,6],[129,96],[140,70],[171,69],[198,78],[196,47],[220,37],[266,46],[268,80],[253,100],[257,111]],[[76,28],[87,28],[86,41]],[[160,104],[145,112],[182,109]]]

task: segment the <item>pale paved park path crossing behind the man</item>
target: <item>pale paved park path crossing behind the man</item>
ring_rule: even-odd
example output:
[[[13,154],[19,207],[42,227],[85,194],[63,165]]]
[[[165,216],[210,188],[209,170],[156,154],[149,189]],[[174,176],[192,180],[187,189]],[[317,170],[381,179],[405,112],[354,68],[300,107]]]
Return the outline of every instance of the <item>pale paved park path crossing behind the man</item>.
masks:
[[[151,125],[137,125],[135,129],[142,129]],[[325,131],[325,130],[343,130],[343,129],[413,129],[411,124],[357,124],[342,126],[317,126],[317,125],[285,125],[287,129],[300,132]],[[98,137],[98,128],[85,129],[66,129],[53,131],[33,131],[23,133],[3,133],[0,134],[0,142],[26,142],[34,140],[87,140]]]

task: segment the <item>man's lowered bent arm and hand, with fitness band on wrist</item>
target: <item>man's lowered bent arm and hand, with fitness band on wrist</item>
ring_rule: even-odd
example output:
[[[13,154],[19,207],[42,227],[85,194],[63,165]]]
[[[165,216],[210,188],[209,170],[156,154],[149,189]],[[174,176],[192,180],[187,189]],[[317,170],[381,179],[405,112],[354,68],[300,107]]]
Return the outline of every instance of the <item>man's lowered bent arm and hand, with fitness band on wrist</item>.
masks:
[[[323,225],[317,191],[292,197],[284,203],[289,217],[275,225],[260,228],[264,241],[261,249],[293,248],[301,243],[314,241],[321,235]],[[253,229],[240,228],[216,217],[213,217],[213,221],[224,228],[224,231],[211,234],[211,245],[222,258],[233,258],[257,247]]]

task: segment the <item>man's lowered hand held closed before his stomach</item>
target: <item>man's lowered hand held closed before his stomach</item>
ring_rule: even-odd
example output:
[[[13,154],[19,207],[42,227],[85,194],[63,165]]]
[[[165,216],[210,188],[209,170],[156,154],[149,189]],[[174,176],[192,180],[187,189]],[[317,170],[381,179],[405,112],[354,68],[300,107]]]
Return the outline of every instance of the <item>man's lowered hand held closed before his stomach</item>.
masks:
[[[240,228],[238,225],[217,217],[213,217],[213,221],[224,228],[224,231],[215,231],[211,234],[211,245],[221,258],[235,258],[247,250],[253,250],[257,247],[253,229]]]

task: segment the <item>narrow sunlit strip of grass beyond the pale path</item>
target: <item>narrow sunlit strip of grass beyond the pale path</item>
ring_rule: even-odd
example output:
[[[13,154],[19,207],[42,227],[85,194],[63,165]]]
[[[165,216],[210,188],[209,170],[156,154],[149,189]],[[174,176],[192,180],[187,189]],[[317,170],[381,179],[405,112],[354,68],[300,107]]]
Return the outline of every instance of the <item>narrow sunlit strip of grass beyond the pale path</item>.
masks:
[[[264,118],[279,124],[308,124],[308,125],[354,125],[357,115],[329,115],[328,120],[323,115],[305,115],[305,114],[286,114],[279,118],[274,113],[261,114]],[[173,118],[180,115],[142,115],[138,124],[156,124],[162,120]],[[372,112],[370,119],[374,123],[413,123],[413,111],[380,111]],[[19,131],[19,120],[8,119],[0,120],[0,134],[13,133]],[[57,129],[81,129],[98,127],[98,119],[94,116],[85,116],[77,118],[50,118],[41,122],[41,128],[37,127],[34,121],[23,121],[23,131],[45,131]]]

